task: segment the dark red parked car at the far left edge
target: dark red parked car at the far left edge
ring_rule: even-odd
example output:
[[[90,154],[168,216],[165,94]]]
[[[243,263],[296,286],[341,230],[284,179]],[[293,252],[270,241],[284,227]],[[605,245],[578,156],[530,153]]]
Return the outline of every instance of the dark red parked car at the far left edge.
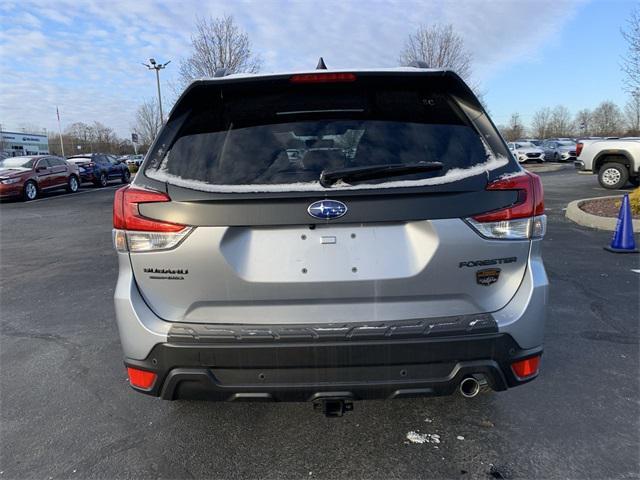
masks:
[[[66,188],[76,192],[78,167],[63,158],[44,156],[8,157],[0,160],[0,198],[34,200],[47,190]]]

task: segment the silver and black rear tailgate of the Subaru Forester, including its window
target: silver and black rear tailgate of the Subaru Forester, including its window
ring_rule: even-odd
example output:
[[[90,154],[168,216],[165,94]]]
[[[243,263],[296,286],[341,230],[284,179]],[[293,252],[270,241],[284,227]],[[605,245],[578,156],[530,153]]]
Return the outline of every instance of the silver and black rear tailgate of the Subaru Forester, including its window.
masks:
[[[317,181],[328,168],[421,161],[443,168],[329,188]],[[514,190],[485,189],[519,167],[450,73],[197,84],[143,171],[136,186],[166,191],[171,201],[140,204],[140,214],[194,227],[171,250],[130,255],[143,297],[169,321],[491,312],[515,294],[526,269],[528,240],[490,240],[465,220],[516,203]],[[341,216],[309,213],[329,200],[344,205]]]

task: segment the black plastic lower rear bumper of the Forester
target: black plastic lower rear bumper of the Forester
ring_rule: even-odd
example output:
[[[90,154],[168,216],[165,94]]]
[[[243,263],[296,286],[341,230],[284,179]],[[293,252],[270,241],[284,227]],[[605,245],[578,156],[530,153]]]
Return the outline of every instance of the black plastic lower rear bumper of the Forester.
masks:
[[[510,335],[467,334],[399,339],[156,345],[145,360],[127,366],[155,372],[149,390],[166,400],[318,401],[450,395],[463,378],[482,376],[501,391],[526,383],[514,361],[539,355]]]

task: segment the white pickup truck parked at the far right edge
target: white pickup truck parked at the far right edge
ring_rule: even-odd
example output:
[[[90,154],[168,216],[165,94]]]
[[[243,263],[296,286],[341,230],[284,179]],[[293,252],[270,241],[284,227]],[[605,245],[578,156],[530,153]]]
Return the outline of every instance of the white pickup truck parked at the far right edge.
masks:
[[[581,140],[576,147],[578,170],[598,174],[604,188],[616,190],[640,183],[640,138]]]

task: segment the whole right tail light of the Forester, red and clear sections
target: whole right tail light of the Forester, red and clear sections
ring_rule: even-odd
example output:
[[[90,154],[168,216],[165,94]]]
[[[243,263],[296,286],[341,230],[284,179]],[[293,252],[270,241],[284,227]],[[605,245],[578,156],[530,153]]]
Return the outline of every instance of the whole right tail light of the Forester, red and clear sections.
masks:
[[[468,218],[469,224],[483,237],[497,240],[542,238],[547,228],[544,215],[542,182],[537,175],[525,172],[496,180],[487,190],[514,190],[518,198],[513,205]]]

